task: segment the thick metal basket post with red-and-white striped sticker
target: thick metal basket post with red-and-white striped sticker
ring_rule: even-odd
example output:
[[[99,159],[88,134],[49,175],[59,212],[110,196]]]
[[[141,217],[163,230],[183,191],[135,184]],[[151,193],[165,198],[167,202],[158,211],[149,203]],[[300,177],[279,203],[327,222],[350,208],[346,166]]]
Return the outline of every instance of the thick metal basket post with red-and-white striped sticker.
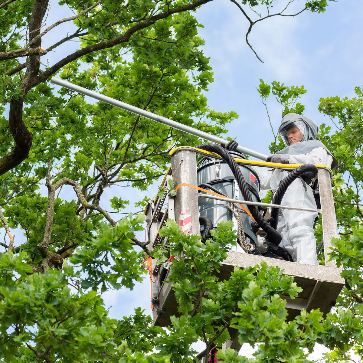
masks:
[[[197,185],[196,152],[180,150],[171,157],[171,170],[173,173],[174,187],[186,183]],[[200,236],[198,192],[187,186],[180,187],[175,196],[175,220],[184,234],[197,234]]]

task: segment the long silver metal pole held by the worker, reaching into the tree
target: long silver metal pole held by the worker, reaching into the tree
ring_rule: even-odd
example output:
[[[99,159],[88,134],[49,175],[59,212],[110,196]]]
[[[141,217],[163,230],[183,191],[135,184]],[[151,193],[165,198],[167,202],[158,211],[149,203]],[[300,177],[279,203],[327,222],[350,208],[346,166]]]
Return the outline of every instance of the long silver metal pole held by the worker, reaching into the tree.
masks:
[[[52,77],[52,79],[50,79],[50,82],[52,82],[55,85],[68,88],[69,90],[76,91],[78,93],[84,94],[85,96],[89,96],[89,97],[98,99],[98,101],[108,103],[109,105],[119,107],[120,109],[132,112],[132,113],[134,113],[136,115],[143,116],[143,117],[146,117],[146,118],[148,118],[150,120],[162,123],[163,125],[167,125],[167,126],[173,127],[174,129],[177,129],[177,130],[180,130],[180,131],[183,131],[183,132],[187,132],[188,134],[197,136],[199,138],[202,138],[202,139],[205,139],[205,140],[208,140],[208,141],[211,141],[211,142],[215,142],[216,144],[227,144],[227,142],[228,142],[227,140],[221,139],[221,138],[219,138],[217,136],[210,135],[207,132],[194,129],[193,127],[190,127],[190,126],[187,126],[187,125],[183,125],[182,123],[173,121],[173,120],[171,120],[169,118],[166,118],[166,117],[163,117],[163,116],[156,115],[156,114],[154,114],[152,112],[140,109],[139,107],[131,106],[128,103],[118,101],[117,99],[107,97],[107,96],[105,96],[103,94],[97,93],[95,91],[88,90],[88,89],[86,89],[84,87],[81,87],[81,86],[77,86],[77,85],[75,85],[73,83],[64,81],[63,79]],[[253,157],[257,158],[257,159],[261,159],[261,160],[266,160],[267,159],[267,155],[262,154],[261,152],[249,149],[248,147],[238,145],[236,150],[238,152],[241,152],[242,154],[247,154],[247,155],[253,156]]]

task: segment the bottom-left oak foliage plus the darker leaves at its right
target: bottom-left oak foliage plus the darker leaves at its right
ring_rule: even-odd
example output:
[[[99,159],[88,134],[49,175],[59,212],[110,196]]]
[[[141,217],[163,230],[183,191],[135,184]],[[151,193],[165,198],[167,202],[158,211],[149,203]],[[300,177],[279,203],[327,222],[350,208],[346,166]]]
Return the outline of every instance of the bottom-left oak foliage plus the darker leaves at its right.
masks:
[[[96,291],[75,292],[68,279],[77,277],[66,266],[64,273],[32,269],[19,256],[0,255],[0,359],[4,362],[34,361],[34,352],[50,361],[139,362],[154,349],[152,338],[162,329],[139,308],[131,317],[110,319]],[[68,275],[68,276],[67,276]],[[67,344],[65,344],[67,342]],[[69,345],[70,344],[70,345]],[[70,349],[72,346],[72,349]],[[167,362],[160,359],[158,362]]]

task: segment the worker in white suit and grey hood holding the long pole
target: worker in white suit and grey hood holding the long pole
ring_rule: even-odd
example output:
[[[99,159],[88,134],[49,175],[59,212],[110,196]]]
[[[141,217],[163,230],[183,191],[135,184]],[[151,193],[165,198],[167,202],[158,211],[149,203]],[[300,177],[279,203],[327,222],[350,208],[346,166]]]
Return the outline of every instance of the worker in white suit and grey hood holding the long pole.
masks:
[[[268,157],[267,161],[285,164],[322,164],[333,168],[337,166],[325,145],[317,140],[318,126],[309,118],[290,113],[282,118],[278,129],[286,148]],[[233,150],[237,143],[229,142],[225,148]],[[270,169],[262,171],[253,167],[257,172],[261,189],[271,189],[276,192],[281,181],[288,175],[287,170]],[[281,205],[291,207],[316,208],[313,190],[309,186],[313,180],[295,179],[287,188]],[[308,183],[308,184],[307,184]],[[280,247],[284,247],[295,262],[318,265],[316,240],[314,236],[315,212],[281,209],[278,215],[277,232],[281,234]]]

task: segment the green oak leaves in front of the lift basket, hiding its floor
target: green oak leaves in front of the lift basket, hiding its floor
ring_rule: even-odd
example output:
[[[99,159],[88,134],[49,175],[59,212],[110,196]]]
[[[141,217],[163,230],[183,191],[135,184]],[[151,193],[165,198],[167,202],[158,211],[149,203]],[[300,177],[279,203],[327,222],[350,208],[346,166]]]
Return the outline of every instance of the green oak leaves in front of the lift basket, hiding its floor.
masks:
[[[213,240],[203,246],[199,237],[184,235],[174,221],[168,221],[162,235],[169,238],[171,254],[184,258],[173,259],[169,280],[173,281],[175,297],[182,314],[172,317],[172,326],[166,337],[158,339],[160,351],[171,352],[171,342],[188,336],[188,343],[200,339],[205,342],[207,351],[221,345],[230,337],[229,326],[238,330],[240,343],[260,345],[256,356],[258,362],[276,362],[286,356],[286,362],[302,362],[307,356],[302,347],[310,344],[309,351],[322,332],[322,314],[319,311],[301,315],[295,321],[287,322],[285,300],[282,295],[294,299],[302,290],[292,277],[282,274],[277,267],[261,266],[235,268],[228,280],[219,281],[219,263],[227,255],[229,244],[235,243],[231,222],[222,222],[213,233]],[[159,247],[159,250],[161,247]],[[304,329],[299,329],[299,325]],[[188,333],[187,333],[188,332]],[[291,344],[291,342],[295,342]],[[191,362],[187,356],[193,351],[186,350],[178,343],[179,355],[171,355],[173,362]],[[231,351],[219,353],[228,361],[242,362]],[[284,361],[284,360],[283,360]]]

